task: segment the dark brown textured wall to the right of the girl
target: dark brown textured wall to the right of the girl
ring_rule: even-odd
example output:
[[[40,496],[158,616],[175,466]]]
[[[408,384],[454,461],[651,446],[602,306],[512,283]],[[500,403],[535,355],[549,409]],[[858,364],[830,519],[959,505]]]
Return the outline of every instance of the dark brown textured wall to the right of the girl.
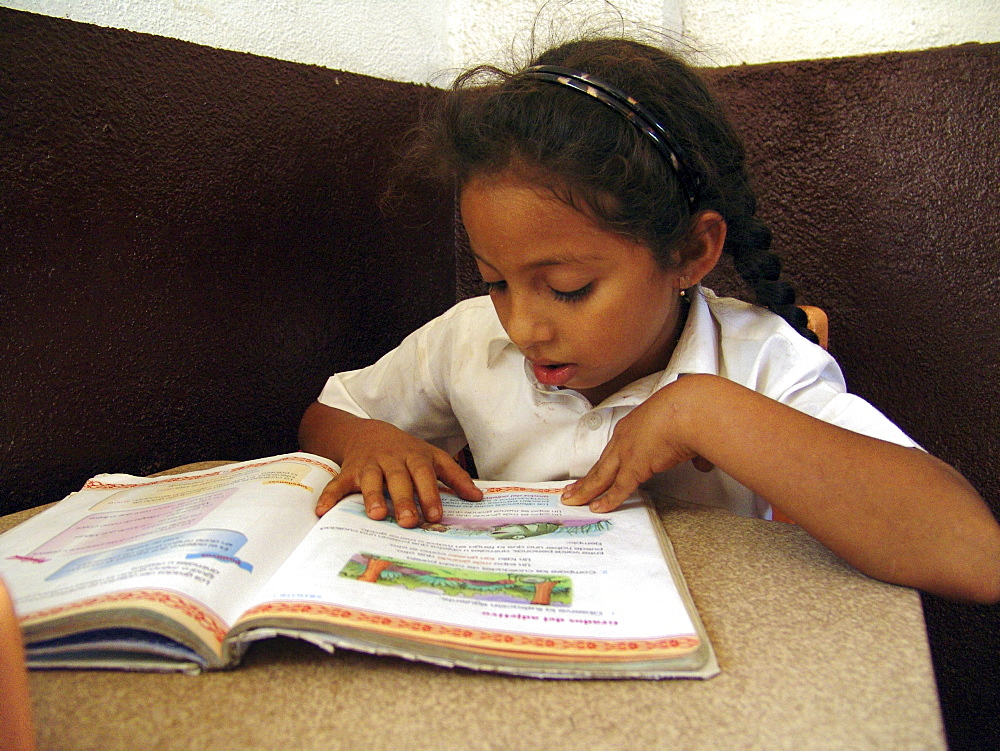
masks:
[[[1000,45],[705,73],[850,389],[1000,513]],[[923,604],[951,748],[1000,747],[1000,608]]]

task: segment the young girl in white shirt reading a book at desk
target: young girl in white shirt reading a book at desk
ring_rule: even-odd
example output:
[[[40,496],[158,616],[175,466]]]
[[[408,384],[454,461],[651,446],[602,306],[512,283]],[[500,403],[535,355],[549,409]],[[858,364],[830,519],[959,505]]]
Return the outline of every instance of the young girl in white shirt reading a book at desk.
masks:
[[[462,76],[408,163],[458,190],[489,297],[332,377],[300,442],[343,474],[322,514],[384,492],[415,526],[438,481],[579,478],[563,502],[778,509],[865,573],[1000,600],[1000,527],[975,490],[862,399],[810,339],[755,216],[742,145],[696,75],[620,39]],[[699,286],[731,255],[758,305]],[[419,508],[418,508],[419,503]]]

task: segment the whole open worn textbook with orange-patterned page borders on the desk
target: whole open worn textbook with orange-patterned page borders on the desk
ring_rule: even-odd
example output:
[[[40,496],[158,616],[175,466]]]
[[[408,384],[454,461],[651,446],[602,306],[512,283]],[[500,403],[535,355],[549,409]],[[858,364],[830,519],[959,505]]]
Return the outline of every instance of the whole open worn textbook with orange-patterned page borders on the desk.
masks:
[[[160,477],[98,475],[0,535],[29,668],[232,668],[279,636],[539,678],[719,672],[648,500],[610,514],[565,483],[442,491],[443,518],[317,519],[336,464],[285,454]]]

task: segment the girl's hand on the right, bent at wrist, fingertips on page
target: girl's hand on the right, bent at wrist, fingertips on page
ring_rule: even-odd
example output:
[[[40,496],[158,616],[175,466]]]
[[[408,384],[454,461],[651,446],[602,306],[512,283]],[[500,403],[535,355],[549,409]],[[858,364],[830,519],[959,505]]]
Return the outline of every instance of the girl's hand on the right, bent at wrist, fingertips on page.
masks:
[[[614,511],[657,472],[689,460],[702,471],[712,468],[711,462],[689,449],[682,439],[683,420],[674,386],[660,389],[618,422],[590,472],[566,486],[563,503],[589,503],[590,510],[598,513]]]

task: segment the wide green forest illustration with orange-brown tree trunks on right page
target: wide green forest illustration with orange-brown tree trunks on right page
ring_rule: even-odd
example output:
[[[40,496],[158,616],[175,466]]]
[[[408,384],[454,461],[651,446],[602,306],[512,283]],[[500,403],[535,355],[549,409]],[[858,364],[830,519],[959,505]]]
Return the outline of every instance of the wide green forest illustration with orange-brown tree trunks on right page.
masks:
[[[468,597],[490,602],[568,606],[572,603],[572,581],[568,576],[468,571],[400,561],[386,556],[358,553],[340,571],[340,576],[414,592]]]

